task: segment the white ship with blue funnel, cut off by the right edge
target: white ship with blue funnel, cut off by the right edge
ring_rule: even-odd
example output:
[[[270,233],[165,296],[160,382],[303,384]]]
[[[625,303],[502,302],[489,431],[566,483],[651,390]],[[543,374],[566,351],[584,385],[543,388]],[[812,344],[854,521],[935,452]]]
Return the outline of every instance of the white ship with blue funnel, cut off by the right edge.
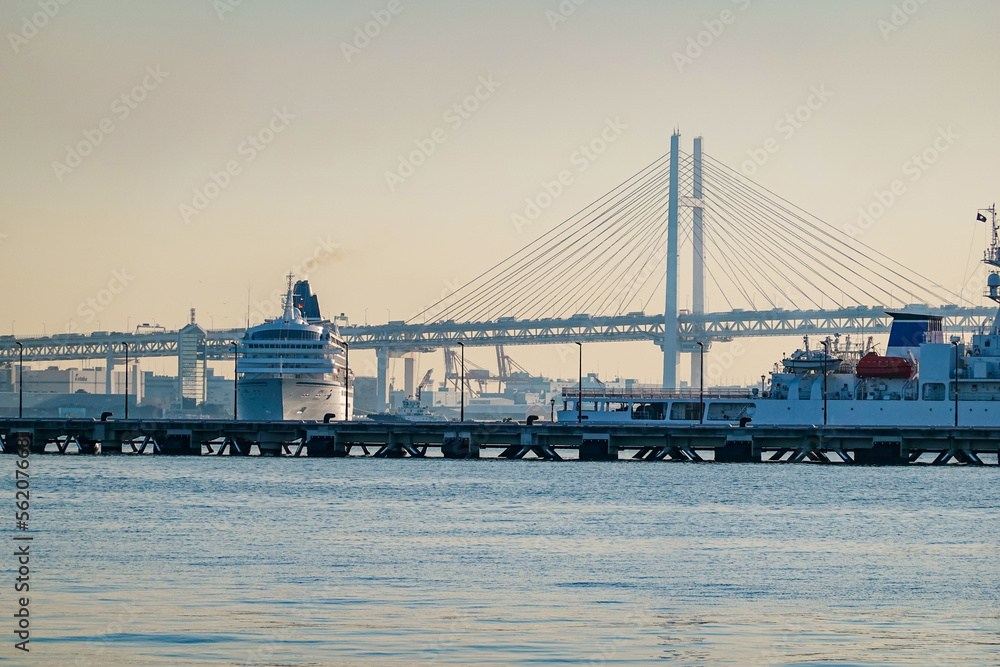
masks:
[[[992,269],[986,297],[1000,304],[1000,242],[996,207],[993,243],[983,260]],[[768,387],[719,393],[636,387],[610,392],[563,392],[559,421],[587,424],[727,424],[836,426],[1000,426],[1000,310],[972,336],[944,340],[942,318],[916,309],[890,312],[885,355],[827,338],[775,364]]]

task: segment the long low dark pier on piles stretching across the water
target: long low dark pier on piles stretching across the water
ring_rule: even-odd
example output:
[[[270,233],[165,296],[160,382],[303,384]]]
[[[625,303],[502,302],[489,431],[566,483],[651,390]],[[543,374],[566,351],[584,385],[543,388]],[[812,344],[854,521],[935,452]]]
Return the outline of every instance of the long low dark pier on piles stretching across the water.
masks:
[[[998,428],[535,422],[0,420],[3,452],[562,461],[997,465]]]

